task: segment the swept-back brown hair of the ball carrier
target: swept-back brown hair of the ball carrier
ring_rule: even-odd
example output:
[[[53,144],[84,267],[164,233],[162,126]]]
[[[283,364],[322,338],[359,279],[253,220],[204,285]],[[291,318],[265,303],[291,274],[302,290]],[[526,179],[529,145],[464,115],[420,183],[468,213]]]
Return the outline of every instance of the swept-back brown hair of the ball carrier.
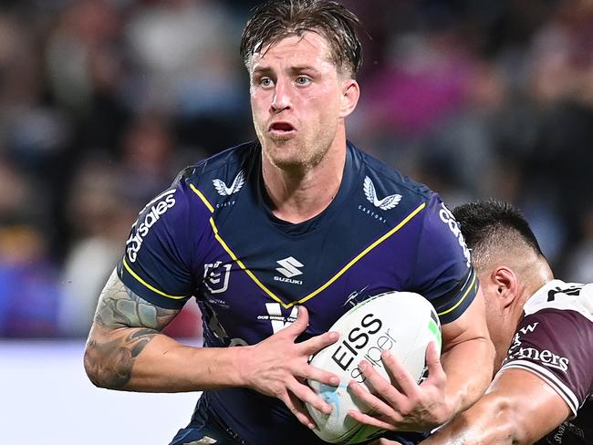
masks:
[[[245,66],[255,52],[286,36],[312,31],[329,43],[331,60],[338,70],[355,76],[362,62],[362,47],[356,28],[359,17],[338,2],[325,0],[268,0],[255,7],[241,37]]]

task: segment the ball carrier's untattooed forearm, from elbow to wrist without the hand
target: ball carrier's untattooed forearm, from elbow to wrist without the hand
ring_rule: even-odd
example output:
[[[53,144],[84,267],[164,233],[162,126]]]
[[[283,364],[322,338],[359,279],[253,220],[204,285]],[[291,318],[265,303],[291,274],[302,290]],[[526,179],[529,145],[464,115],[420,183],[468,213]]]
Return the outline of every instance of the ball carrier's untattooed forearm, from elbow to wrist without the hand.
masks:
[[[463,411],[484,394],[492,379],[494,346],[489,338],[463,341],[442,354],[451,414]]]

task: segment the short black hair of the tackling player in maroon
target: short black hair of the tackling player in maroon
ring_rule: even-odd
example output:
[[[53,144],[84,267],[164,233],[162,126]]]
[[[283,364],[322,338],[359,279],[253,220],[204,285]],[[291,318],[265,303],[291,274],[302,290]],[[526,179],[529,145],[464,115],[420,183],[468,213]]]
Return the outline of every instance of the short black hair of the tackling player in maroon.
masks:
[[[459,205],[453,215],[460,224],[476,268],[484,267],[496,250],[525,246],[545,258],[523,213],[508,202],[481,201]]]

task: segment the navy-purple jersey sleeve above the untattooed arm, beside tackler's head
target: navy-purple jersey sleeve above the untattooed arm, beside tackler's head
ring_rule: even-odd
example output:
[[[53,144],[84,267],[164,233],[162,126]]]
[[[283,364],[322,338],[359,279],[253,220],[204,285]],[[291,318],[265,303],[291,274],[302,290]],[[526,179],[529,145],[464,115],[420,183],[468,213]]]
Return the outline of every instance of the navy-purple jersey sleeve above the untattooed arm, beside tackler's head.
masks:
[[[463,314],[478,280],[459,224],[438,195],[427,203],[412,287],[434,305],[442,324]]]

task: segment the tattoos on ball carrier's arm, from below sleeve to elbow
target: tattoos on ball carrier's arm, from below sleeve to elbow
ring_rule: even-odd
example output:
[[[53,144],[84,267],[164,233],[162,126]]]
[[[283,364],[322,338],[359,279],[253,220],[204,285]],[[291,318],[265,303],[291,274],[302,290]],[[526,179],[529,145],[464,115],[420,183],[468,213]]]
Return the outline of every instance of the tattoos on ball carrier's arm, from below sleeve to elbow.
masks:
[[[125,387],[136,357],[179,312],[134,294],[114,271],[99,296],[85,351],[90,380],[99,387]]]

